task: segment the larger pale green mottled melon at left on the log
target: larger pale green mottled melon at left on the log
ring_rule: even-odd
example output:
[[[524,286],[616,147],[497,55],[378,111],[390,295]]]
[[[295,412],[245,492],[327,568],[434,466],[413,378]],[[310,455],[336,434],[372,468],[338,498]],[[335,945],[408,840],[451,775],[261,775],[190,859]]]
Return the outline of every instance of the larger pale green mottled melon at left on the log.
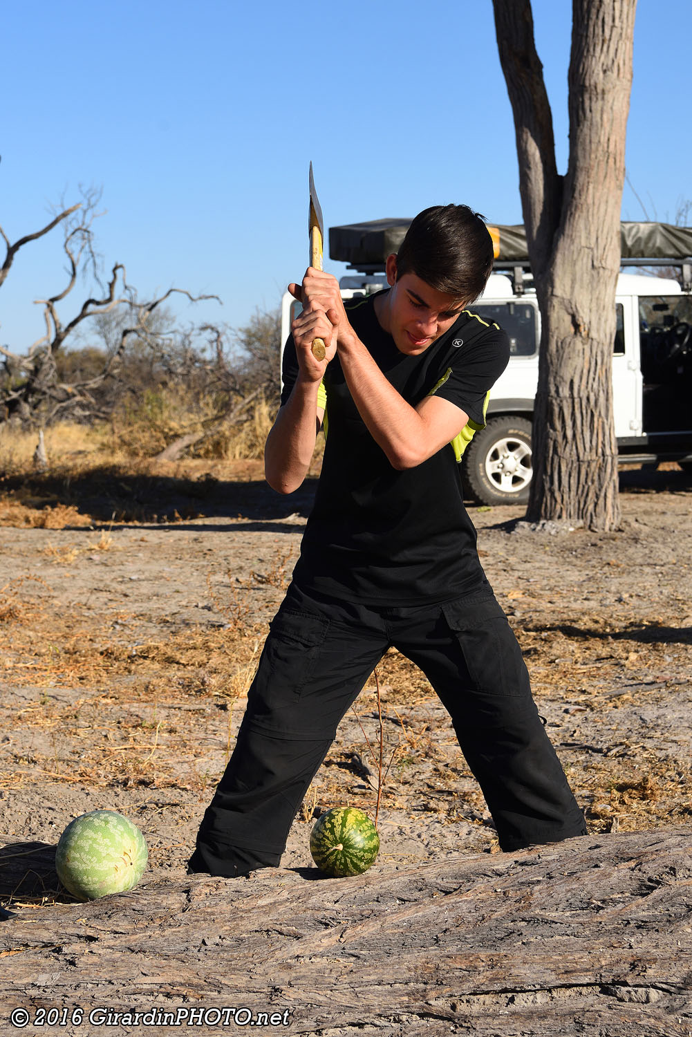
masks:
[[[147,861],[144,836],[114,810],[92,810],[71,821],[55,850],[58,878],[80,900],[131,890]]]

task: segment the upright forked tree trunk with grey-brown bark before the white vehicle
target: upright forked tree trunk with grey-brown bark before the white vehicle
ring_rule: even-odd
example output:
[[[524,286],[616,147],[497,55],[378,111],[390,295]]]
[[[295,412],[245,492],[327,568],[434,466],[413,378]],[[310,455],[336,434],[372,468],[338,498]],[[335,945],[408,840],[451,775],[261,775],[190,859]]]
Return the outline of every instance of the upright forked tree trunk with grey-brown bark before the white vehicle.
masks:
[[[543,318],[527,517],[611,530],[620,523],[611,358],[636,0],[574,0],[563,183],[530,2],[494,5]]]

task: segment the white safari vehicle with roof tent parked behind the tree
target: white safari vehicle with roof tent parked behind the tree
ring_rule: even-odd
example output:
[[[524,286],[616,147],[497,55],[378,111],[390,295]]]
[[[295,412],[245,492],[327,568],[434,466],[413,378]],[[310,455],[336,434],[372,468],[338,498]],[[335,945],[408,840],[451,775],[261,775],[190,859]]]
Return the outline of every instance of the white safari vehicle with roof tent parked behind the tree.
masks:
[[[409,220],[330,228],[330,256],[358,276],[341,278],[351,298],[386,287],[384,260]],[[509,336],[509,363],[495,383],[488,424],[466,448],[467,493],[481,504],[524,503],[531,480],[531,424],[538,380],[541,314],[522,227],[492,228],[496,271],[470,309]],[[504,255],[503,255],[504,245]],[[626,265],[679,269],[681,280],[620,274],[615,297],[613,409],[620,464],[676,460],[692,469],[692,228],[622,224]],[[682,282],[682,283],[681,283]],[[282,301],[282,341],[300,304]]]

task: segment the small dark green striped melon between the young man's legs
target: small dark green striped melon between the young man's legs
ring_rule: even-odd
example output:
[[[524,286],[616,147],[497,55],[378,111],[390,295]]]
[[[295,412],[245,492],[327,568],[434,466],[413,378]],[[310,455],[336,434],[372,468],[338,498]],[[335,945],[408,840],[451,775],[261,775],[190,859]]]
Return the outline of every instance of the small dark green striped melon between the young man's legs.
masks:
[[[378,830],[357,807],[333,807],[315,821],[310,833],[312,860],[334,878],[367,871],[379,850]]]

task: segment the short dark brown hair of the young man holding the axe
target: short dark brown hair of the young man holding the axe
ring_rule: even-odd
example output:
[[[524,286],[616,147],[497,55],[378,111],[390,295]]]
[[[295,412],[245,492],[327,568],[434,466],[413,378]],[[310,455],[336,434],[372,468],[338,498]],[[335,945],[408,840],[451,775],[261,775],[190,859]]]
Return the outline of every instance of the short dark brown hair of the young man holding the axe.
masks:
[[[396,276],[416,274],[465,305],[477,299],[493,270],[493,240],[468,205],[431,205],[414,219],[396,255]]]

